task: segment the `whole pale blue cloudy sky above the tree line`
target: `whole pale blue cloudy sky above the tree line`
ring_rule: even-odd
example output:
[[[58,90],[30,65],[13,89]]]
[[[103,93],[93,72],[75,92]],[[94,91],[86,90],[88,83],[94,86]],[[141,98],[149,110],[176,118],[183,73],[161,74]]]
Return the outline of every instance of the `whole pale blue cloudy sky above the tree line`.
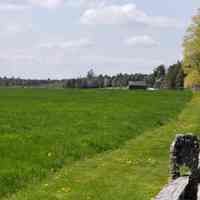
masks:
[[[1,0],[0,77],[150,73],[182,59],[199,0]]]

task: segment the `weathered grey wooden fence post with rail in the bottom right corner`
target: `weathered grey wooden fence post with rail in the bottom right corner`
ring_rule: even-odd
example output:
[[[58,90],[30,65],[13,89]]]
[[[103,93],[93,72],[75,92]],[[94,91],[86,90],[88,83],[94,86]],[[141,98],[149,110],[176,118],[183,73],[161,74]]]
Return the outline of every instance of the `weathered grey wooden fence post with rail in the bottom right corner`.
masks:
[[[192,134],[177,135],[170,147],[171,182],[155,200],[200,200],[199,140]],[[181,166],[189,168],[190,176],[181,175]]]

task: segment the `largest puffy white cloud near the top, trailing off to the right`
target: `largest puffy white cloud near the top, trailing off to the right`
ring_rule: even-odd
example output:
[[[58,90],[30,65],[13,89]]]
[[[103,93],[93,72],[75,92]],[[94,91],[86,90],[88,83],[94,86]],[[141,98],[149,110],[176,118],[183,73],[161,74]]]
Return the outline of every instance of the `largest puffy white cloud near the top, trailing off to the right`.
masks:
[[[156,27],[180,27],[177,20],[164,16],[149,16],[135,4],[109,5],[87,9],[81,16],[82,24],[130,24],[139,23]]]

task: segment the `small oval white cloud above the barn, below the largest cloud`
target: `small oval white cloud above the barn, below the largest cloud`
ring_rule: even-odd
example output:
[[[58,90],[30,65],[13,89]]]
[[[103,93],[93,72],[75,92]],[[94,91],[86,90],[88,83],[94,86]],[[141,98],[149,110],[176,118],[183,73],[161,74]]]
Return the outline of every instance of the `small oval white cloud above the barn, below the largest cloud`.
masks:
[[[148,35],[133,36],[126,39],[124,43],[128,46],[137,47],[154,47],[159,45],[159,42],[155,41],[152,37]]]

